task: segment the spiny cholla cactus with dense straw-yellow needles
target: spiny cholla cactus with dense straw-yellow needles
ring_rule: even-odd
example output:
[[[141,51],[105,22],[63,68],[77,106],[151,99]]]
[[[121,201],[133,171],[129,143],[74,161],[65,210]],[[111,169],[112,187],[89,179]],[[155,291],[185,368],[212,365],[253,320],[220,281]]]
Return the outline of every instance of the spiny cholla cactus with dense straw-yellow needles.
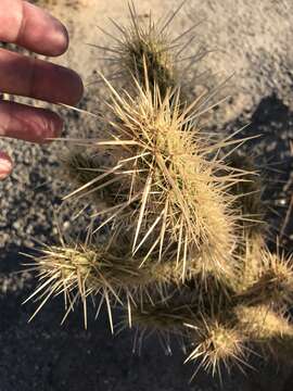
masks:
[[[42,250],[30,298],[41,308],[64,294],[65,317],[81,300],[86,325],[87,298],[105,301],[113,331],[112,307],[122,306],[123,327],[141,330],[140,342],[155,330],[169,349],[177,336],[187,361],[215,374],[249,365],[250,345],[290,355],[293,269],[266,247],[251,161],[229,152],[243,140],[213,141],[199,125],[208,97],[182,98],[166,34],[176,13],[158,28],[141,25],[130,7],[132,26],[117,26],[113,52],[128,78],[124,88],[104,79],[107,137],[75,141],[64,164],[76,186],[66,198],[90,200],[100,223],[86,243]],[[105,225],[98,244],[93,234]]]

